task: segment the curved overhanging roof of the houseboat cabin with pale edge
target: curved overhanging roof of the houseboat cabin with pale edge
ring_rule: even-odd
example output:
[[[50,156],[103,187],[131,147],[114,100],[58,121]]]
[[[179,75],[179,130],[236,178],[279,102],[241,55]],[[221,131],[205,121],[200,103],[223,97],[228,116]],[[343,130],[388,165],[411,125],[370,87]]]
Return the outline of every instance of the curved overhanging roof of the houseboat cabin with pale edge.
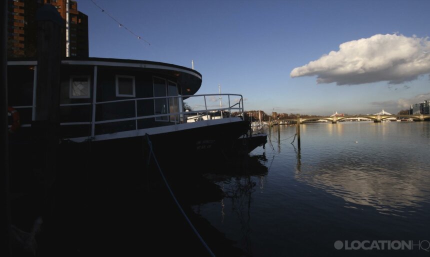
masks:
[[[34,58],[10,58],[8,65],[37,65]],[[191,68],[149,60],[132,60],[98,57],[66,57],[61,59],[61,64],[68,65],[98,65],[143,68],[148,71],[164,73],[177,77],[177,83],[181,86],[182,95],[193,95],[201,86],[201,74]]]

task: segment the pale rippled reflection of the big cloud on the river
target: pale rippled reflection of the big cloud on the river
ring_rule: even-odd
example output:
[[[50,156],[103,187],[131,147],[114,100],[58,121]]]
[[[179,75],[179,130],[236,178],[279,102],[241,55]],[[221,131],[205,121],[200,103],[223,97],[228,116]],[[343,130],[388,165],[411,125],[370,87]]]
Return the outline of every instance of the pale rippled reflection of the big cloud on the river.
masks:
[[[348,202],[372,205],[388,214],[403,212],[405,206],[417,205],[430,196],[428,191],[422,190],[429,182],[423,174],[397,176],[386,175],[389,170],[383,168],[375,171],[371,174],[358,168],[339,168],[336,172],[326,168],[301,169],[297,179]]]

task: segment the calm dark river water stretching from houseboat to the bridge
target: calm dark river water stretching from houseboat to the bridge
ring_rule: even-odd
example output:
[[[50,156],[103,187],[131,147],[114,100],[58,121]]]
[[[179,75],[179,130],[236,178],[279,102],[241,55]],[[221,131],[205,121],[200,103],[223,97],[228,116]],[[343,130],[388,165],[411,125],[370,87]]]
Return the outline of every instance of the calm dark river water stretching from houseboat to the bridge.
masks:
[[[295,126],[267,133],[246,163],[208,170],[221,201],[193,206],[235,246],[252,256],[430,256],[430,122],[301,124],[301,149]]]

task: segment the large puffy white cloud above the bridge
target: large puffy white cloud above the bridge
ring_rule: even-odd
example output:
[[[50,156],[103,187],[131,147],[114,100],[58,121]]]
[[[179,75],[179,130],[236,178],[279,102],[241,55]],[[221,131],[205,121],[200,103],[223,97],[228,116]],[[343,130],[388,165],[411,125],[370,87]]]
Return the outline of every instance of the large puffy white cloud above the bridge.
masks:
[[[338,51],[294,68],[290,76],[314,76],[317,83],[337,85],[389,81],[397,84],[430,73],[430,41],[427,37],[376,34],[344,42]]]

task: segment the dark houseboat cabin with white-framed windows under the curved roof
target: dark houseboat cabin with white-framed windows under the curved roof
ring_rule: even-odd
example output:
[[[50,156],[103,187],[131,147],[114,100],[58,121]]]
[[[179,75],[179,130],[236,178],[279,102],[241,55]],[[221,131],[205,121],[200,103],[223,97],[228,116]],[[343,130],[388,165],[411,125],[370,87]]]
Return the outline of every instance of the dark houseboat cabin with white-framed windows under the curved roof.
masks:
[[[25,130],[35,118],[37,61],[9,60],[7,72],[8,105],[18,110],[20,129]],[[205,107],[185,114],[183,100],[196,96],[201,81],[201,74],[194,69],[162,62],[92,57],[63,59],[60,137],[74,141],[128,137],[145,128],[185,123],[190,115],[222,110],[243,112],[241,95],[235,95],[239,100],[233,104],[228,94],[228,106],[221,110],[219,106],[210,109],[205,96],[200,95],[204,99],[201,105]],[[207,119],[209,115],[203,116]]]

